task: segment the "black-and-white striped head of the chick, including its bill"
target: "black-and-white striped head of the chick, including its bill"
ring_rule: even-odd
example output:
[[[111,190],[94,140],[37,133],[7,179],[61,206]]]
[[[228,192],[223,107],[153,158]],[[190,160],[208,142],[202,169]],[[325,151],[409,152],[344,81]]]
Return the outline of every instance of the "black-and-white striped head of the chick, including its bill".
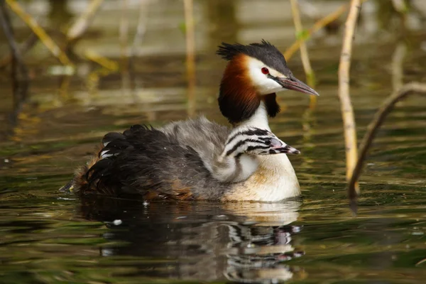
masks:
[[[296,148],[281,141],[275,134],[256,127],[239,127],[229,135],[222,155],[238,157],[249,155],[300,154]]]

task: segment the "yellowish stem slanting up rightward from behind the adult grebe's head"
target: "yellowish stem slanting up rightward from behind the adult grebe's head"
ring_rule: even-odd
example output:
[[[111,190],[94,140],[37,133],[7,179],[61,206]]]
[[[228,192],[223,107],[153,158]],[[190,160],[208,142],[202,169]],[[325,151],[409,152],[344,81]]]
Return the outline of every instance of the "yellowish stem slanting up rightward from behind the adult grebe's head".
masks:
[[[361,4],[364,3],[367,0],[361,0]],[[324,26],[327,26],[329,23],[332,23],[333,21],[336,21],[337,18],[342,16],[344,12],[349,8],[349,4],[344,4],[339,7],[336,11],[329,13],[329,15],[325,16],[324,18],[321,18],[319,21],[315,22],[312,28],[308,29],[306,31],[305,36],[302,38],[298,38],[293,45],[290,46],[290,48],[287,48],[284,52],[285,60],[290,60],[292,56],[295,54],[297,50],[300,48],[300,44],[305,42],[310,38],[310,36],[317,31],[320,31],[320,29],[324,28]]]

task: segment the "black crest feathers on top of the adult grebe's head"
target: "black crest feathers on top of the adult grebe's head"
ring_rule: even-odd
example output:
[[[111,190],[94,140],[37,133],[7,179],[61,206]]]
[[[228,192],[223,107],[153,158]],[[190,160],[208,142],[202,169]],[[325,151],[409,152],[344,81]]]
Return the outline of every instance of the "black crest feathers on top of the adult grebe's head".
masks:
[[[216,53],[228,61],[232,60],[236,55],[245,54],[261,60],[265,65],[272,67],[284,75],[290,72],[283,53],[280,53],[280,50],[275,48],[275,45],[266,40],[262,40],[261,43],[250,43],[249,45],[222,43],[222,45],[219,45]]]

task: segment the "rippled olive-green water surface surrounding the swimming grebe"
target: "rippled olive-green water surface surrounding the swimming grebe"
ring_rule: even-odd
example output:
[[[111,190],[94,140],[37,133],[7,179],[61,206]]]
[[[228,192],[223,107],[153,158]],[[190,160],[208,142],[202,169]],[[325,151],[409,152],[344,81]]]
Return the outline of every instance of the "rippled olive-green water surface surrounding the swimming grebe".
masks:
[[[226,1],[195,1],[197,114],[226,124],[216,104],[224,68],[214,55],[220,40],[264,37],[281,50],[293,43],[290,11],[278,15],[275,6],[265,8],[266,2],[239,1],[231,5],[235,11],[225,7],[235,18],[221,18],[217,11]],[[319,2],[324,14],[342,4]],[[300,200],[80,201],[58,192],[104,133],[187,118],[185,38],[178,28],[182,4],[160,3],[149,6],[146,41],[132,60],[130,83],[111,72],[94,84],[89,74],[99,66],[84,60],[72,77],[53,75],[58,63],[42,47],[28,55],[31,97],[14,134],[0,140],[0,283],[425,283],[426,98],[398,104],[378,133],[361,176],[355,217],[345,191],[339,33],[319,36],[309,46],[321,95],[315,111],[308,110],[305,95],[283,92],[278,94],[283,111],[271,120],[273,132],[302,151],[290,156],[302,187]],[[254,17],[259,7],[269,16]],[[119,61],[117,23],[107,21],[112,13],[99,14],[92,28],[97,38],[82,40],[76,47],[80,53],[92,48]],[[133,18],[135,13],[129,12]],[[426,74],[421,28],[411,28],[401,39],[400,33],[388,31],[392,25],[378,24],[385,28],[370,31],[368,21],[364,15],[351,70],[360,138],[392,92],[398,45],[406,48],[403,81],[422,81]],[[289,66],[305,79],[298,55]],[[11,111],[7,70],[0,72],[0,84],[0,128],[6,131]]]

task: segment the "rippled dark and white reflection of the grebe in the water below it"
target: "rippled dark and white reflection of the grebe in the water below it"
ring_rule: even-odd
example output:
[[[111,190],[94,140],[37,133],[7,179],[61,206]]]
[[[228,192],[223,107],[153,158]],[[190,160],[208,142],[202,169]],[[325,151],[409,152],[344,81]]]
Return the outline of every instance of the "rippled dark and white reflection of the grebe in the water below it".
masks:
[[[80,214],[105,222],[110,230],[103,237],[120,244],[102,247],[101,256],[153,260],[134,263],[133,276],[276,283],[300,272],[285,264],[304,254],[293,247],[302,230],[291,224],[299,207],[299,201],[175,204],[94,197],[82,200]]]

